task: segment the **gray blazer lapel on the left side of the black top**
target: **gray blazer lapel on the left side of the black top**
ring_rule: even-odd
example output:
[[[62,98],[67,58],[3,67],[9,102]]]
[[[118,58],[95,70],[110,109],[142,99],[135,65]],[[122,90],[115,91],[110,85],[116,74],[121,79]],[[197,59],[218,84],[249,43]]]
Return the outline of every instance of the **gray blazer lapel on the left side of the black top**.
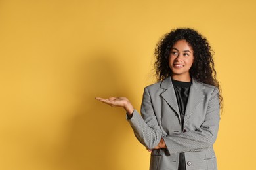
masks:
[[[175,91],[173,88],[173,84],[171,82],[171,77],[163,80],[163,82],[161,83],[161,88],[166,89],[165,92],[161,93],[161,97],[163,97],[163,99],[175,111],[175,113],[179,117],[179,121],[181,122],[181,116],[179,114],[179,107],[178,107]]]

